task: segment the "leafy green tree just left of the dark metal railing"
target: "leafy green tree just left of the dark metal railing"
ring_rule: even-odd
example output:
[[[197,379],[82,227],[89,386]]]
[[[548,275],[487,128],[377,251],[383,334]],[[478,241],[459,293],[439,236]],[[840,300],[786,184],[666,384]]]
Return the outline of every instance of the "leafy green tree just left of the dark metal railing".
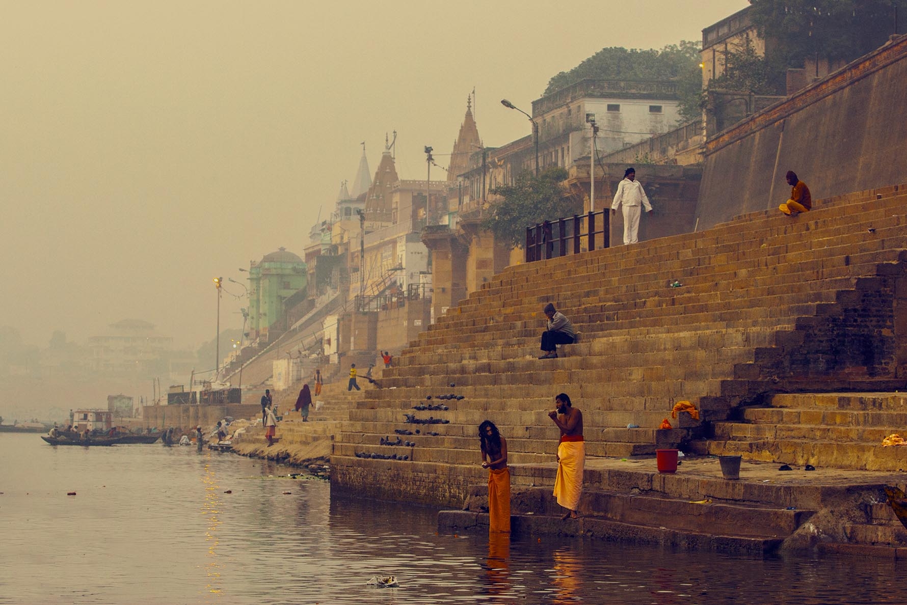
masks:
[[[494,188],[490,192],[502,200],[493,204],[491,215],[482,222],[483,229],[516,248],[525,243],[527,227],[579,214],[582,201],[571,196],[562,185],[567,176],[564,169],[551,166],[538,177],[527,171],[514,184]]]

